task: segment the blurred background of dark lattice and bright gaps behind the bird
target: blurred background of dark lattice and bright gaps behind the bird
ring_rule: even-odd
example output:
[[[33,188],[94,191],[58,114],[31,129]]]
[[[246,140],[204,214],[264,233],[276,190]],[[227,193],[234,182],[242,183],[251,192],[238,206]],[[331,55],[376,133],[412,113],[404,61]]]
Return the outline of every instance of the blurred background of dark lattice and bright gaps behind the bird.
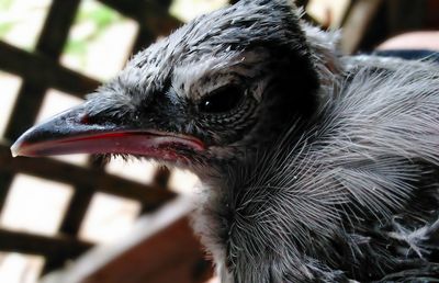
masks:
[[[297,2],[314,24],[342,27],[346,54],[439,29],[438,0]],[[12,159],[9,147],[34,123],[81,103],[132,54],[227,4],[0,0],[0,282],[215,281],[188,224],[195,176],[138,160],[102,167],[86,155]]]

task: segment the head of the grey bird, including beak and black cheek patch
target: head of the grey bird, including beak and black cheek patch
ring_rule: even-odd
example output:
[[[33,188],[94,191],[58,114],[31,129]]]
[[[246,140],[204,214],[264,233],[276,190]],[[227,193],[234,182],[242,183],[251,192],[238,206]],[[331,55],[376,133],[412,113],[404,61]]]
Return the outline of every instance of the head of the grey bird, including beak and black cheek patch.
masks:
[[[24,133],[21,156],[239,160],[312,115],[318,75],[290,0],[243,0],[135,55],[87,101]],[[110,56],[110,55],[109,55]]]

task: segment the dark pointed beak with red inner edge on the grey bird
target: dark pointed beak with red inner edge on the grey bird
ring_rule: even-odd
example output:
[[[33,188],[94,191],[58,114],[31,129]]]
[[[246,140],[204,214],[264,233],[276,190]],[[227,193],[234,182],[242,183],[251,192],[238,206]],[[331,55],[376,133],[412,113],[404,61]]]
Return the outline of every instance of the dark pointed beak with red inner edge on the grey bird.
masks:
[[[176,148],[203,150],[191,136],[142,129],[113,123],[90,123],[86,107],[68,110],[26,131],[11,147],[12,155],[42,157],[68,154],[127,154],[178,158]]]

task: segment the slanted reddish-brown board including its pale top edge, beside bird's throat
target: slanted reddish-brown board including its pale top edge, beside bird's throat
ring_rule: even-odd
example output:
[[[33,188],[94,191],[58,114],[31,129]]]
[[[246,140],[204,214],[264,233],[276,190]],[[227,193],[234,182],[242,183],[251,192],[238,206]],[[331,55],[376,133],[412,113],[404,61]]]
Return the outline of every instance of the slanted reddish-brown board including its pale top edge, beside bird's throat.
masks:
[[[180,196],[142,216],[133,233],[111,246],[91,249],[58,273],[70,283],[202,283],[212,264],[193,235],[191,197]],[[53,281],[43,280],[42,283]]]

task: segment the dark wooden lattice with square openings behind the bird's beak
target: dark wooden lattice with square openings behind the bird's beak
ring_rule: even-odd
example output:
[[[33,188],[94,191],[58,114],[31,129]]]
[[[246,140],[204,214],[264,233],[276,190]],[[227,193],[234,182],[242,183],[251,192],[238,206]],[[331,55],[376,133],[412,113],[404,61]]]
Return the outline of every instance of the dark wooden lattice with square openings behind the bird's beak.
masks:
[[[134,50],[149,45],[158,35],[167,34],[180,22],[168,14],[162,4],[154,1],[101,0],[122,14],[136,20],[140,26]],[[93,194],[98,191],[128,197],[142,203],[143,212],[150,212],[175,197],[164,188],[169,172],[159,170],[155,183],[144,185],[105,173],[89,160],[82,168],[54,159],[12,158],[9,147],[26,128],[31,127],[48,88],[71,93],[79,98],[93,91],[100,82],[72,71],[58,63],[68,32],[78,11],[80,0],[53,0],[33,53],[0,42],[0,69],[20,76],[23,80],[12,117],[0,143],[0,211],[11,182],[16,173],[26,173],[74,185],[75,192],[67,213],[55,237],[30,235],[0,229],[0,250],[44,256],[44,273],[59,268],[67,259],[78,257],[92,244],[78,240]],[[123,188],[123,190],[121,190]]]

